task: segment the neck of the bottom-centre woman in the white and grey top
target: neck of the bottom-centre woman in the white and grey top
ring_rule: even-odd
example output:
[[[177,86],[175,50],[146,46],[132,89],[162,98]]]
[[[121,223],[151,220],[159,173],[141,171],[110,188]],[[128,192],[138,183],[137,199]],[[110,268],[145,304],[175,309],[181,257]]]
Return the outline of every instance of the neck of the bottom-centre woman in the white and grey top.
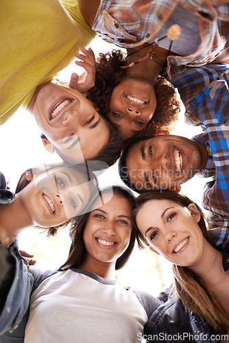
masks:
[[[88,270],[101,276],[103,279],[115,280],[115,262],[101,262],[93,259],[90,255],[86,256],[84,262],[78,267],[79,269]]]

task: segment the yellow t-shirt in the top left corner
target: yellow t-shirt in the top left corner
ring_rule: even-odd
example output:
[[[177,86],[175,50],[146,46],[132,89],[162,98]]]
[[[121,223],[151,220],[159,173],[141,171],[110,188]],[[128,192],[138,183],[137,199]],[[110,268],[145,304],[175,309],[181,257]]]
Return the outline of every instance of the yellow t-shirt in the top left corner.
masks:
[[[1,0],[0,124],[95,37],[76,0]]]

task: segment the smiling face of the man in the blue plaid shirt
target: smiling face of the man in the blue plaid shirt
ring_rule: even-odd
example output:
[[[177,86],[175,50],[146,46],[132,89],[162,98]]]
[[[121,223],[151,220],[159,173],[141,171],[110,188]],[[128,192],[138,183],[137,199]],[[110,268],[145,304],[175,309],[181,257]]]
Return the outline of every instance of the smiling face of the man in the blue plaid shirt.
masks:
[[[178,187],[200,172],[202,156],[195,141],[163,135],[130,147],[128,176],[139,191]]]

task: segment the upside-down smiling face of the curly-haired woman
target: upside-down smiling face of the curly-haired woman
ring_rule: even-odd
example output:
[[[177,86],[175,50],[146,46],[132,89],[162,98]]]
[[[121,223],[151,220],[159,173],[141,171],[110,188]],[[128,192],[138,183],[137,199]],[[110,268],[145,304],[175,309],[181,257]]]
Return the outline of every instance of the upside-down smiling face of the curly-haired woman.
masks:
[[[151,84],[126,77],[112,92],[108,119],[119,128],[125,141],[145,128],[154,115],[156,104]]]

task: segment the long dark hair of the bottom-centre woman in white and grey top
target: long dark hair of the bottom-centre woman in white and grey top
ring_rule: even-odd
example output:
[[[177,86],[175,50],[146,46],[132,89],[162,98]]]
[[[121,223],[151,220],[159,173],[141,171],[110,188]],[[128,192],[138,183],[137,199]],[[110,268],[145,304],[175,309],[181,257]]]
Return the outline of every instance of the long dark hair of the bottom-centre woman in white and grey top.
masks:
[[[107,191],[110,190],[110,187],[107,189]],[[120,186],[113,186],[112,187],[113,194],[116,196],[119,196],[121,198],[125,198],[130,202],[131,207],[134,206],[134,196],[132,193],[130,193],[129,189],[125,189],[124,187]],[[95,203],[98,196],[95,197],[93,202],[91,203],[91,206]],[[88,218],[90,216],[90,213],[86,213],[82,215],[81,217],[77,217],[75,219],[75,223],[71,227],[71,236],[72,236],[72,244],[69,252],[69,257],[67,261],[60,267],[60,270],[67,270],[69,268],[78,268],[81,263],[83,263],[84,258],[86,257],[86,248],[84,245],[84,229],[86,228],[86,224],[88,222]],[[115,269],[121,269],[125,265],[125,263],[128,261],[132,250],[134,248],[135,243],[135,232],[132,230],[131,236],[130,236],[130,243],[128,245],[128,248],[123,252],[123,255],[117,259]]]

